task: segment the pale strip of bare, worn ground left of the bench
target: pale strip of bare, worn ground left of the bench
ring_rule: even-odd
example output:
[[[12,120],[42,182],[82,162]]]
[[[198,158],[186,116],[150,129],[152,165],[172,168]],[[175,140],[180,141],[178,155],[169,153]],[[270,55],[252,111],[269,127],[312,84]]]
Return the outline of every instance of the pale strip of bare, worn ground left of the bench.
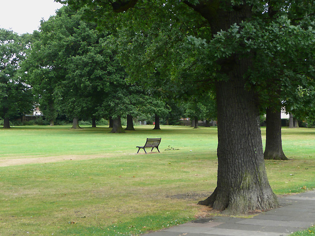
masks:
[[[10,156],[0,158],[0,167],[18,166],[27,164],[50,163],[71,160],[89,160],[96,158],[108,158],[118,154],[96,154],[96,155],[61,155],[61,156]],[[121,155],[121,154],[120,154]]]

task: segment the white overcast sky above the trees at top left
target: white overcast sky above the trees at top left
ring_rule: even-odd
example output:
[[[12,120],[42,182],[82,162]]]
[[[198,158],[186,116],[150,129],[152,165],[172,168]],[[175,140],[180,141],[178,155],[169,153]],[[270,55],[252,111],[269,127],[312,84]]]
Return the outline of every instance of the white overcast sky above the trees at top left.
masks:
[[[42,18],[48,20],[62,6],[54,0],[0,0],[0,28],[32,33]]]

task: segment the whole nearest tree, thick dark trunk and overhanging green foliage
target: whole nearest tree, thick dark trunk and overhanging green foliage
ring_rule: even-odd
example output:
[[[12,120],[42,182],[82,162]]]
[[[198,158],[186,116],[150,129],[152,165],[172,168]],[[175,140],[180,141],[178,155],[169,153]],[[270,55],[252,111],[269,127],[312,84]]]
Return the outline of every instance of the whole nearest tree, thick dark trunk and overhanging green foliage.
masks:
[[[263,72],[269,69],[264,66],[268,65],[275,52],[283,56],[289,52],[287,47],[292,45],[285,40],[288,35],[293,35],[294,46],[300,46],[303,51],[306,51],[307,47],[314,47],[310,43],[311,37],[307,39],[308,41],[303,39],[306,44],[297,44],[301,41],[298,37],[303,37],[303,32],[307,31],[306,33],[313,35],[314,38],[314,30],[301,26],[294,27],[285,16],[288,12],[292,14],[294,12],[296,17],[303,16],[307,19],[308,14],[314,10],[313,5],[304,5],[304,1],[280,0],[274,1],[274,4],[251,0],[60,1],[70,5],[89,4],[90,9],[95,12],[94,17],[100,21],[105,15],[106,17],[111,15],[109,9],[111,7],[114,12],[125,12],[122,16],[124,19],[129,18],[137,23],[143,22],[144,19],[148,23],[148,28],[156,27],[158,37],[162,35],[160,38],[164,41],[153,41],[151,47],[147,47],[148,50],[141,54],[150,58],[148,62],[157,59],[161,61],[161,58],[165,59],[167,53],[172,53],[171,50],[165,50],[169,48],[168,42],[175,42],[167,37],[170,34],[164,34],[163,29],[167,29],[167,25],[169,31],[172,31],[183,29],[182,26],[191,25],[191,22],[204,22],[204,30],[198,31],[199,34],[182,37],[187,39],[186,46],[191,49],[186,53],[190,54],[190,57],[182,58],[182,67],[189,68],[190,74],[197,75],[199,80],[214,83],[217,97],[219,121],[217,188],[209,198],[199,204],[219,210],[226,209],[229,213],[244,213],[279,206],[268,183],[258,122],[260,103],[268,99],[268,93],[264,92],[267,91],[268,81],[277,78],[273,75],[268,80],[268,75],[271,75],[273,70],[264,74]],[[273,16],[272,21],[265,21],[269,19],[266,14],[268,7],[281,9],[276,11],[277,14]],[[130,10],[127,11],[128,9]],[[305,10],[304,13],[301,9]],[[139,11],[142,11],[141,19],[137,14]],[[312,22],[309,23],[314,25]],[[158,24],[162,27],[159,28]],[[141,23],[137,26],[145,28]],[[137,35],[144,40],[147,37],[141,30]],[[178,38],[178,41],[182,40]],[[139,53],[138,55],[141,57]],[[178,60],[175,58],[174,61]],[[304,63],[298,59],[293,61],[296,64]],[[281,64],[280,60],[275,62]],[[155,70],[155,65],[152,66],[152,70]],[[292,80],[297,72],[292,66],[293,63],[289,65],[283,72],[288,80]],[[141,67],[136,67],[139,68]]]

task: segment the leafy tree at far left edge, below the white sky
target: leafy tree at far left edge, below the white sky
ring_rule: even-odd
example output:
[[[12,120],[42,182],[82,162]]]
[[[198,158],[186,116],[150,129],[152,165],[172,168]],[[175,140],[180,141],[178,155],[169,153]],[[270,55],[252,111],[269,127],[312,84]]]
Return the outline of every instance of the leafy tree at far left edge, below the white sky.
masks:
[[[29,113],[33,109],[31,87],[19,74],[25,59],[27,42],[13,31],[0,29],[0,117],[3,128],[10,128],[10,118]]]

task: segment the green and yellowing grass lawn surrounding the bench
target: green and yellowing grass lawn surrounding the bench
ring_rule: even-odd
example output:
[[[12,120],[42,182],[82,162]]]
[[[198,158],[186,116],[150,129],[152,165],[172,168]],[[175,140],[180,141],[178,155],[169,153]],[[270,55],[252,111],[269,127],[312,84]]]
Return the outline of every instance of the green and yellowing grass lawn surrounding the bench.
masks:
[[[207,214],[217,129],[135,128],[0,129],[0,235],[130,236]],[[135,154],[147,137],[161,153]],[[315,130],[284,128],[283,148],[290,161],[266,161],[275,193],[315,188]]]

